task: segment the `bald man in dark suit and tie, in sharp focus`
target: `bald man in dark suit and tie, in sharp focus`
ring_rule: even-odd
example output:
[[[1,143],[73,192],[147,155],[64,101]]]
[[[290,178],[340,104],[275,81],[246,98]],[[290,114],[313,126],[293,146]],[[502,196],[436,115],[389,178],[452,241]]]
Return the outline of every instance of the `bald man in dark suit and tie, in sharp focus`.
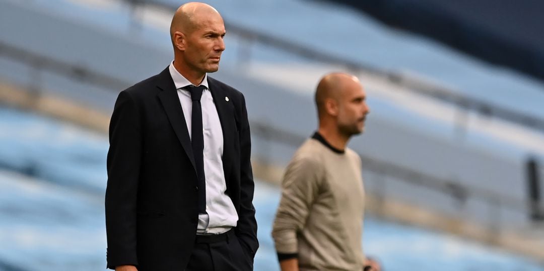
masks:
[[[115,103],[107,267],[252,270],[258,242],[245,100],[208,76],[225,50],[223,20],[207,4],[187,3],[170,34],[174,61]]]

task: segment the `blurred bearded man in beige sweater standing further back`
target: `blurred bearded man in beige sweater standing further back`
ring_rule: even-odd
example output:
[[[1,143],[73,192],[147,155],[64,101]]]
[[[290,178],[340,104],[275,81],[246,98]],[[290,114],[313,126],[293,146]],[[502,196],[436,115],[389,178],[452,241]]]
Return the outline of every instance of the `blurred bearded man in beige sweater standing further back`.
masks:
[[[272,236],[281,270],[378,270],[361,245],[361,158],[346,145],[369,113],[359,80],[331,73],[316,91],[319,129],[296,151],[282,181]]]

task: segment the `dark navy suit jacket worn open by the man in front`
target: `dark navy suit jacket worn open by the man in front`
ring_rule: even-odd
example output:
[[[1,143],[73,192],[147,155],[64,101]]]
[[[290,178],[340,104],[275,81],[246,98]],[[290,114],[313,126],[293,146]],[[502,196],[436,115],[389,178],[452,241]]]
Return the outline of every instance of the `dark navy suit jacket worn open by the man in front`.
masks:
[[[252,262],[258,248],[251,140],[242,93],[208,76],[224,137],[226,193],[234,229]],[[226,99],[225,97],[228,97]],[[189,132],[168,68],[122,91],[109,127],[108,268],[182,270],[195,243],[197,178]]]

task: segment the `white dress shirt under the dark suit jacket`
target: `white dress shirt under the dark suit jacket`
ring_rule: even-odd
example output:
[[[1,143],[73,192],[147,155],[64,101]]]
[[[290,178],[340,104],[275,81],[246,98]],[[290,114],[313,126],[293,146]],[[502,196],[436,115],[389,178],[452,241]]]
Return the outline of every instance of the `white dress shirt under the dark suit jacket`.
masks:
[[[169,67],[170,75],[176,86],[177,96],[180,98],[183,115],[187,123],[189,137],[191,136],[191,112],[193,100],[191,93],[182,89],[193,85],[187,78],[183,77],[174,67],[174,61]],[[197,234],[221,234],[236,226],[238,213],[230,197],[225,194],[227,189],[225,173],[223,172],[223,130],[212,92],[208,87],[208,74],[200,85],[206,89],[202,92],[200,104],[202,107],[202,133],[204,136],[204,175],[206,177],[206,213],[199,215]]]

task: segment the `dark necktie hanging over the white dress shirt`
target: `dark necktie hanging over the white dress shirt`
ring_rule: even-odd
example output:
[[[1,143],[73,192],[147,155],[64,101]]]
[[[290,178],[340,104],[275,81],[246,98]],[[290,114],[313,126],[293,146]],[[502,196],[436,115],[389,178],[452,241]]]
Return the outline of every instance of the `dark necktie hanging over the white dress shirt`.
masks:
[[[198,196],[199,213],[206,213],[206,177],[204,175],[204,135],[202,129],[202,106],[200,97],[205,86],[187,86],[185,87],[191,93],[193,100],[193,110],[191,113],[191,144],[193,145],[193,155],[195,158],[196,173],[198,177]]]

